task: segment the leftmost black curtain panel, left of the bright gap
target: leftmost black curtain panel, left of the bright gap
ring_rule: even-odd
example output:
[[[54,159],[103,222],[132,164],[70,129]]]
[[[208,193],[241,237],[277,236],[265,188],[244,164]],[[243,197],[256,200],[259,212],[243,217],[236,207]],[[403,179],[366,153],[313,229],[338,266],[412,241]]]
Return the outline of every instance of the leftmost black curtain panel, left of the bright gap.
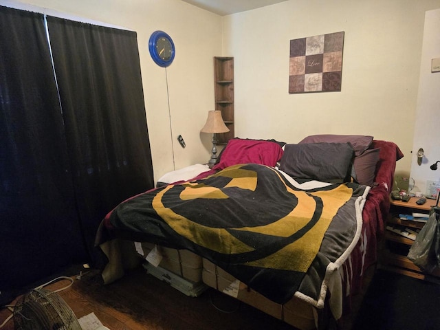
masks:
[[[0,300],[87,260],[43,15],[0,6]]]

